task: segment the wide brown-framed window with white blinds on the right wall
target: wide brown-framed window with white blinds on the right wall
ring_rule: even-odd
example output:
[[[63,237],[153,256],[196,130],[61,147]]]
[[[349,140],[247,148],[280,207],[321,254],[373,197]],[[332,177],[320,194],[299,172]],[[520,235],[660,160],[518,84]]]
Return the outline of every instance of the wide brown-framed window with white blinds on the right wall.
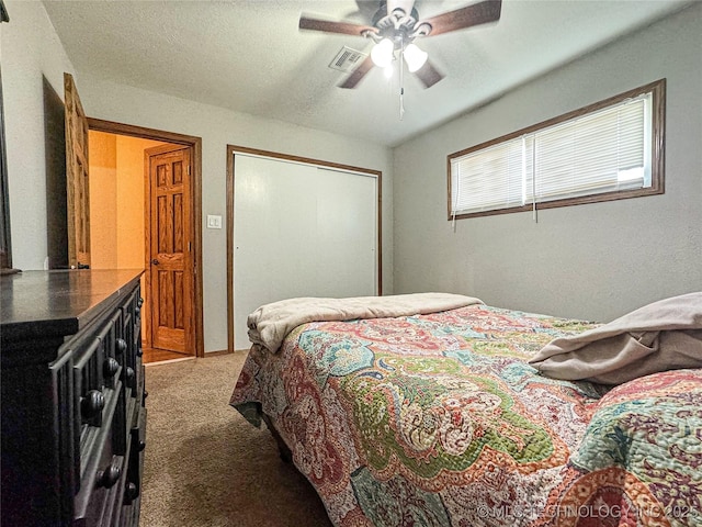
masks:
[[[665,79],[449,156],[449,220],[664,192]]]

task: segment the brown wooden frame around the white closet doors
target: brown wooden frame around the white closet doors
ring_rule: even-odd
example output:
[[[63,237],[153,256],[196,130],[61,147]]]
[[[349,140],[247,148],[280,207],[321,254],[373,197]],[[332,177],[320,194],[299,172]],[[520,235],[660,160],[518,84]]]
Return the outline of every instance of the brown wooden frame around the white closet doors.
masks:
[[[366,173],[377,178],[377,295],[383,295],[383,172],[370,168],[353,167],[338,162],[313,159],[309,157],[293,156],[279,152],[261,150],[246,146],[227,145],[227,351],[234,352],[234,192],[235,192],[235,162],[236,154],[249,154],[253,156],[267,157],[269,159],[281,159],[284,161],[302,162],[305,165],[316,165],[322,168]]]

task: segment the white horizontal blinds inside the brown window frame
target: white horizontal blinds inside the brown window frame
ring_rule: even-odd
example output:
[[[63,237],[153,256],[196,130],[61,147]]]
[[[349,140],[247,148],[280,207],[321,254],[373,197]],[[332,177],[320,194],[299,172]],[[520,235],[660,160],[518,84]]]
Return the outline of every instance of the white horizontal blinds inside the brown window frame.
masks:
[[[452,158],[452,214],[650,187],[650,141],[647,92]]]

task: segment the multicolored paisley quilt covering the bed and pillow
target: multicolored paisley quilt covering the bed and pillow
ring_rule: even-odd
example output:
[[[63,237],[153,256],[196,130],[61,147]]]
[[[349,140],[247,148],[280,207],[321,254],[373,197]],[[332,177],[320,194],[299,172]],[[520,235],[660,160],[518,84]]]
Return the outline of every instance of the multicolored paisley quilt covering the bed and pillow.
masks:
[[[700,368],[552,379],[529,360],[600,326],[479,301],[373,315],[252,339],[230,401],[335,525],[702,525]]]

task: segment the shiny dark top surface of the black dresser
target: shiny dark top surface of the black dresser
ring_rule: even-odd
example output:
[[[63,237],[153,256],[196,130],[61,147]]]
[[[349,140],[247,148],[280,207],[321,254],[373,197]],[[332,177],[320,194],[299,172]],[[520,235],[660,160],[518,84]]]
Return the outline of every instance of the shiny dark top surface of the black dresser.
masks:
[[[100,304],[117,296],[139,269],[24,271],[0,278],[2,339],[42,330],[71,335],[97,316]]]

